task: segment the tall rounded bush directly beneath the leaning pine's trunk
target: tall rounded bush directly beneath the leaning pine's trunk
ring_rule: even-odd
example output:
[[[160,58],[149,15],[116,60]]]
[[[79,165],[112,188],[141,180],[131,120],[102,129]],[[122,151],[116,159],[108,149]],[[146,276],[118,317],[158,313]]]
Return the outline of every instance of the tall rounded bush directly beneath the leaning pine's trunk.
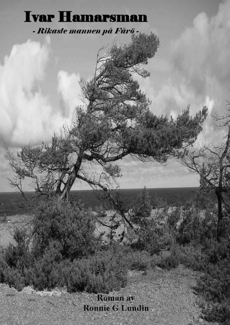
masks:
[[[51,242],[65,258],[88,256],[97,245],[93,230],[92,213],[75,203],[41,203],[33,220],[34,256],[42,256]]]

